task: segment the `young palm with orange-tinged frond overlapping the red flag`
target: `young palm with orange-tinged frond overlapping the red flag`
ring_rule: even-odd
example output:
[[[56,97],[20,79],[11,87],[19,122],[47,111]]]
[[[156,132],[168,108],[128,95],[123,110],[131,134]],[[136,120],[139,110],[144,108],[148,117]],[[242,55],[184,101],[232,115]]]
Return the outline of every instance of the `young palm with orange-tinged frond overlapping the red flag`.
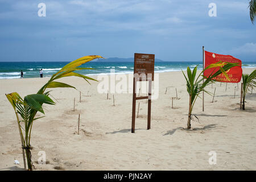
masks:
[[[188,123],[187,123],[187,129],[191,129],[191,116],[192,116],[192,110],[193,106],[195,105],[197,97],[199,97],[199,94],[202,92],[206,92],[210,94],[207,90],[205,90],[205,86],[209,85],[210,83],[214,82],[213,78],[223,73],[226,78],[229,77],[226,74],[225,71],[228,69],[237,66],[236,63],[224,63],[224,62],[218,62],[215,64],[210,64],[207,68],[205,68],[203,71],[200,72],[199,76],[196,78],[196,72],[197,67],[193,69],[193,72],[191,72],[191,69],[187,68],[187,76],[185,76],[184,72],[183,75],[187,81],[187,91],[189,94],[189,111],[188,111]],[[218,68],[218,71],[215,73],[212,73],[208,78],[203,76],[203,73],[206,69],[209,68]],[[205,79],[205,80],[204,80]],[[203,82],[204,80],[204,82]]]

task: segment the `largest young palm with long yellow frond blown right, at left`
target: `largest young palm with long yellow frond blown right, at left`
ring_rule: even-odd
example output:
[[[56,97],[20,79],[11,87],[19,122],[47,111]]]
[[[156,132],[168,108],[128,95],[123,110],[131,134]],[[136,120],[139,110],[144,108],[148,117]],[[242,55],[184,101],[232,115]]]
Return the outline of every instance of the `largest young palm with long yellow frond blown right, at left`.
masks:
[[[42,108],[43,104],[51,104],[51,105],[55,104],[55,102],[53,102],[51,98],[48,97],[50,91],[45,92],[46,89],[47,88],[75,88],[63,82],[56,81],[59,78],[68,77],[68,76],[77,76],[77,77],[84,78],[84,80],[87,81],[88,83],[89,83],[88,80],[94,80],[93,78],[81,75],[74,71],[79,71],[82,69],[92,69],[92,68],[81,68],[79,66],[97,58],[103,58],[103,57],[84,56],[84,57],[81,57],[80,59],[72,61],[71,63],[65,65],[62,69],[60,69],[59,72],[52,75],[49,81],[45,85],[43,85],[41,89],[39,89],[38,93],[28,95],[24,97],[24,99],[22,99],[19,96],[19,94],[16,92],[6,94],[7,99],[10,101],[11,105],[14,108],[16,119],[18,122],[18,129],[20,134],[20,141],[22,143],[23,161],[24,161],[25,169],[26,169],[26,159],[24,156],[24,151],[26,152],[28,170],[32,171],[30,139],[31,139],[32,124],[36,119],[39,119],[39,118],[35,118],[36,113],[38,113],[39,111],[44,114],[44,111]],[[94,80],[94,81],[97,81],[97,80]],[[22,120],[19,119],[19,116],[22,118]]]

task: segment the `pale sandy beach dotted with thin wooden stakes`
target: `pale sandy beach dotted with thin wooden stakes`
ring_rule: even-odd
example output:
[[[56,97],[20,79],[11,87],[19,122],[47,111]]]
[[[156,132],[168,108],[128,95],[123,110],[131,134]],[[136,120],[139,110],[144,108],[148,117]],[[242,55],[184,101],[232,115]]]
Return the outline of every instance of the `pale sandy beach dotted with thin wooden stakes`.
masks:
[[[254,68],[243,69],[251,73]],[[97,78],[97,76],[93,76]],[[24,97],[36,93],[49,78],[0,80],[0,170],[22,170],[23,159],[14,110],[5,93]],[[152,100],[151,129],[147,130],[147,101],[140,100],[135,133],[131,133],[132,94],[97,92],[98,82],[89,85],[82,78],[63,78],[77,88],[52,89],[56,105],[44,105],[46,117],[32,127],[32,162],[36,170],[255,170],[256,92],[246,96],[246,110],[240,110],[241,84],[217,82],[196,101],[187,131],[188,93],[182,72],[159,73],[159,97]],[[165,94],[167,89],[167,94]],[[178,100],[176,100],[176,92]],[[226,89],[226,91],[225,91]],[[82,102],[79,102],[79,91]],[[174,109],[171,109],[171,97]],[[76,98],[75,111],[73,100]],[[137,114],[136,109],[136,114]],[[80,114],[80,134],[77,120]],[[43,114],[38,114],[43,116]],[[37,164],[38,152],[46,152],[47,164]],[[210,165],[210,151],[217,164]],[[20,164],[14,164],[14,159]]]

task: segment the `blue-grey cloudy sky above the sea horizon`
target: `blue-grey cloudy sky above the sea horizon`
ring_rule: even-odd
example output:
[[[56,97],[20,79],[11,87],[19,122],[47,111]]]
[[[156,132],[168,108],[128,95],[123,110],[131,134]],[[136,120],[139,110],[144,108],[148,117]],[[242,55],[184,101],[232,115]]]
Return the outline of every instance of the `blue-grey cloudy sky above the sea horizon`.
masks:
[[[256,60],[249,0],[0,0],[0,61],[85,55],[197,61],[210,52]],[[39,3],[46,16],[38,16]],[[217,16],[208,7],[216,3]]]

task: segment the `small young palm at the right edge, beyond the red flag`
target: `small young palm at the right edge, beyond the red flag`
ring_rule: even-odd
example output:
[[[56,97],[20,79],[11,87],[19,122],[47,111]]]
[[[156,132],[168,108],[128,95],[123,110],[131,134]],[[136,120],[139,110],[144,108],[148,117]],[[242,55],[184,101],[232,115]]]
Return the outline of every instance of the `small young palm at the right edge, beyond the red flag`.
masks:
[[[243,74],[243,104],[242,108],[245,110],[245,96],[248,90],[253,89],[256,86],[256,69],[251,72],[250,75]]]

